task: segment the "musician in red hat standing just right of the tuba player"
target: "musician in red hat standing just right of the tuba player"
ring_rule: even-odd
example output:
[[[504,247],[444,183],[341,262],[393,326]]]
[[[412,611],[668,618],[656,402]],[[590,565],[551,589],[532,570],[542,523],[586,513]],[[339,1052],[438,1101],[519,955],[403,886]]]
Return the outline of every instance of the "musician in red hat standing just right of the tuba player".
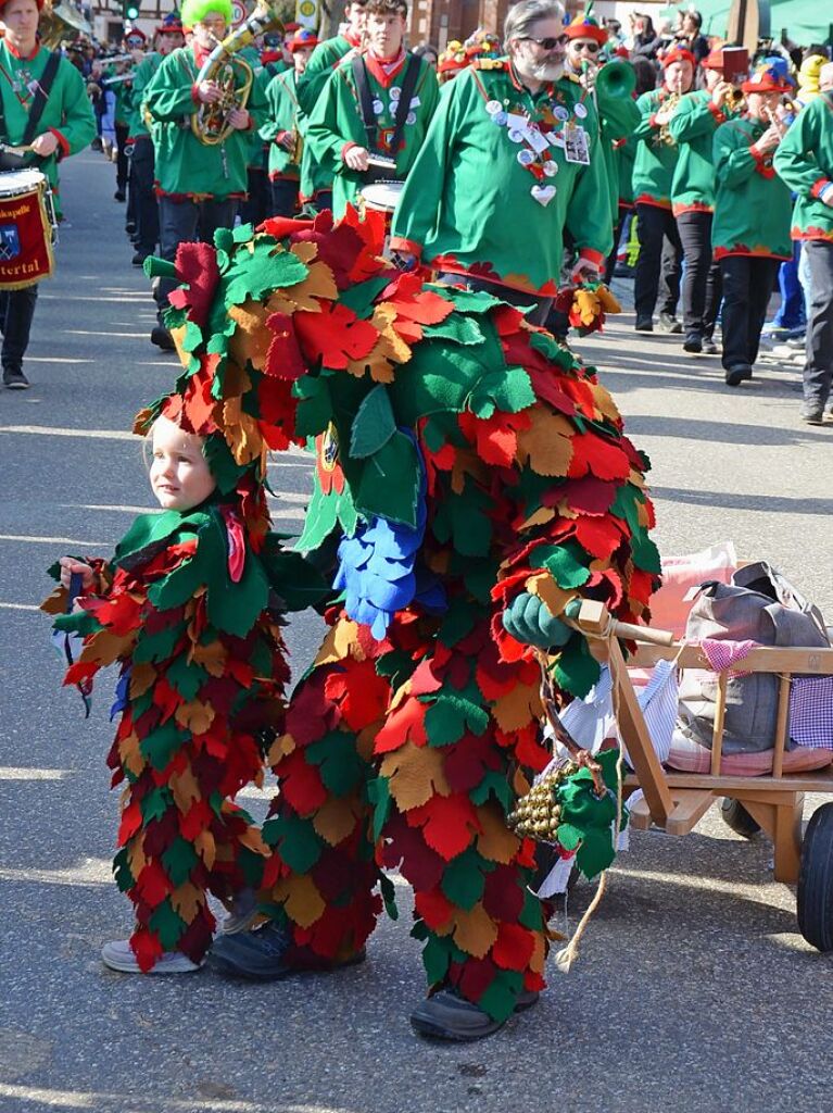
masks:
[[[269,122],[260,129],[264,139],[269,140],[269,185],[271,187],[271,215],[291,217],[298,206],[298,188],[303,151],[303,135],[307,120],[298,104],[297,85],[309,58],[318,46],[315,31],[299,28],[288,41],[294,68],[278,73],[266,89],[269,105]],[[315,167],[314,167],[315,169]],[[327,184],[321,183],[326,188]],[[310,195],[315,194],[315,184]]]

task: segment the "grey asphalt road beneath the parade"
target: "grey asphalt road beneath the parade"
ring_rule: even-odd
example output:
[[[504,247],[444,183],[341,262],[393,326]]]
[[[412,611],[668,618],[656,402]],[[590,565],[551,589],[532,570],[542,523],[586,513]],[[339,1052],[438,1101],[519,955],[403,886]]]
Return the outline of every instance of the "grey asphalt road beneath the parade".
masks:
[[[109,691],[85,721],[36,607],[54,559],[106,554],[151,505],[127,431],[175,361],[148,343],[152,304],[112,168],[86,154],[62,176],[71,227],[41,289],[34,385],[0,393],[0,1110],[829,1110],[831,959],[799,935],[766,841],[737,838],[715,812],[684,839],[635,835],[577,966],[553,966],[538,1007],[473,1046],[411,1035],[423,976],[404,887],[399,922],[383,922],[368,962],[343,974],[249,986],[101,966],[101,944],[130,923],[109,874]],[[653,459],[662,550],[732,538],[833,614],[833,429],[799,424],[797,373],[770,366],[732,391],[716,359],[632,326],[625,315],[579,346]],[[297,529],[306,460],[279,459],[274,479],[276,523]],[[313,619],[292,629],[299,666],[318,632]],[[573,923],[591,892],[577,890]]]

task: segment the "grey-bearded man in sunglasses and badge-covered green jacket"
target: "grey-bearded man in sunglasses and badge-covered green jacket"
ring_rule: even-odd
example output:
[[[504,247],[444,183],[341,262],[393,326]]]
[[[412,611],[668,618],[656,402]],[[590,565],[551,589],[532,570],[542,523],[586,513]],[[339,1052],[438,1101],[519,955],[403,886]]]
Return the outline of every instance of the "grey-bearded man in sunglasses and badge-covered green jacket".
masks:
[[[506,17],[508,57],[455,78],[428,129],[394,217],[391,249],[469,288],[498,289],[546,318],[565,229],[574,278],[597,278],[613,244],[607,176],[591,97],[564,77],[556,0]]]

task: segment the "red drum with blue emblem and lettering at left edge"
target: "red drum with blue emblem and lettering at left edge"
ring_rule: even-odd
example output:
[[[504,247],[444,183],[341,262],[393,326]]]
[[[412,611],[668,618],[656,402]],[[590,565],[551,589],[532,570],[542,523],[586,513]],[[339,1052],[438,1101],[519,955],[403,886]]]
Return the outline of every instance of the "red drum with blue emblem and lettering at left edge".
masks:
[[[54,270],[52,194],[40,170],[0,174],[0,290],[23,289]]]

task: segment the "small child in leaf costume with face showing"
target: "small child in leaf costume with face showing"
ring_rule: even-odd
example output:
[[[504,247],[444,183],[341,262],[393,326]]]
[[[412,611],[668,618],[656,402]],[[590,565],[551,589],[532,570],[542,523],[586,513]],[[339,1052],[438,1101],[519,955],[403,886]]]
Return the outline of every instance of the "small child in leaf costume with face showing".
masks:
[[[317,598],[315,574],[268,532],[256,446],[266,425],[249,418],[244,446],[222,403],[205,398],[196,435],[179,394],[159,400],[136,432],[151,432],[163,513],[140,515],[111,562],[63,558],[52,570],[61,587],[43,609],[83,642],[65,682],[89,691],[100,668],[121,668],[113,873],[136,924],[101,954],[125,973],[197,969],[215,927],[208,893],[230,907],[260,884],[267,850],[234,798],[261,782],[264,749],[282,729],[282,612]]]

